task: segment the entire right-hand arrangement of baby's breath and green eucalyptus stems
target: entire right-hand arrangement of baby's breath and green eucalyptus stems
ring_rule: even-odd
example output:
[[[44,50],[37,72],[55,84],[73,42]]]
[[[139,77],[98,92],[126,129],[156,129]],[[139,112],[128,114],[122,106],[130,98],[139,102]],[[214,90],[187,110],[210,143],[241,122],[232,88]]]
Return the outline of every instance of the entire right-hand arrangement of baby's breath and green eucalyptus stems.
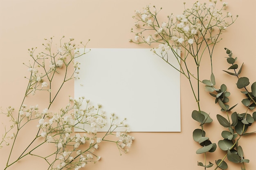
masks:
[[[210,161],[207,163],[207,152],[214,152],[217,148],[217,144],[211,142],[204,131],[205,124],[213,121],[209,113],[202,111],[200,107],[200,84],[204,84],[205,90],[216,98],[215,102],[219,104],[221,111],[225,112],[227,117],[217,115],[220,125],[227,128],[220,132],[223,140],[218,141],[218,147],[224,150],[226,154],[222,159],[215,161],[214,169],[227,169],[228,166],[225,160],[227,158],[231,162],[242,163],[242,169],[245,170],[245,163],[248,163],[249,160],[244,158],[243,149],[238,145],[238,141],[241,137],[254,133],[246,131],[256,121],[256,113],[253,113],[253,115],[248,113],[248,110],[252,110],[256,106],[256,83],[252,84],[251,91],[248,90],[249,79],[238,77],[243,65],[237,71],[238,64],[235,63],[237,58],[233,58],[231,51],[225,48],[229,55],[227,62],[231,64],[228,70],[233,69],[234,73],[225,72],[238,77],[237,87],[239,89],[244,88],[245,91],[242,93],[246,95],[242,101],[246,107],[246,112],[242,114],[231,113],[236,105],[232,107],[227,105],[230,92],[227,91],[225,84],[216,88],[212,63],[213,52],[221,40],[222,33],[236,21],[238,15],[234,17],[232,13],[226,11],[226,2],[218,4],[216,0],[210,0],[207,4],[197,1],[190,9],[186,8],[185,4],[182,14],[168,15],[166,20],[161,20],[161,17],[159,17],[162,8],[158,10],[155,6],[148,5],[142,10],[136,10],[133,16],[136,20],[135,26],[131,29],[135,37],[130,39],[130,42],[148,45],[157,44],[158,46],[151,49],[151,51],[173,68],[175,67],[173,63],[169,62],[166,51],[172,51],[175,54],[176,61],[180,65],[179,68],[175,69],[187,78],[198,106],[198,109],[193,110],[191,114],[192,118],[200,123],[200,128],[193,131],[193,139],[200,145],[196,153],[204,155],[204,162],[198,162],[198,166],[202,166],[204,169],[213,167],[213,163]],[[161,52],[158,53],[155,49],[160,49]],[[181,50],[181,55],[177,53],[177,49]],[[210,80],[200,79],[200,64],[204,57],[209,57]],[[193,63],[191,64],[191,62]]]

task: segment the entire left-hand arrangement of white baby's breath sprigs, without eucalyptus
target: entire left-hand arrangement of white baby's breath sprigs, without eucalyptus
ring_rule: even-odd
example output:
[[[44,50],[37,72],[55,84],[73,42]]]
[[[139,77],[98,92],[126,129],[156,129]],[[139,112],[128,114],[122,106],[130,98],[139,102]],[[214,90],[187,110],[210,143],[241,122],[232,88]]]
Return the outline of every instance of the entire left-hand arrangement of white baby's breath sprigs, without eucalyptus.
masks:
[[[61,89],[65,88],[65,84],[72,79],[79,78],[79,63],[74,62],[74,59],[88,53],[88,51],[79,52],[73,38],[64,43],[63,39],[64,36],[56,45],[58,48],[55,51],[52,48],[55,45],[52,38],[45,39],[46,43],[43,44],[45,51],[35,54],[36,48],[28,50],[32,61],[25,64],[30,75],[25,77],[28,80],[28,85],[20,108],[15,110],[10,106],[7,108],[7,112],[1,110],[2,115],[9,117],[12,123],[10,128],[5,127],[0,141],[0,147],[4,145],[11,147],[9,154],[3,153],[8,157],[6,166],[3,167],[4,170],[28,155],[47,162],[48,170],[78,170],[85,167],[88,162],[95,163],[101,159],[94,151],[103,141],[115,144],[120,154],[128,152],[128,148],[132,145],[134,137],[128,135],[129,127],[125,122],[126,119],[119,121],[115,114],[107,119],[100,104],[93,106],[90,104],[90,100],[85,100],[84,97],[79,99],[67,97],[67,104],[63,108],[57,112],[52,109]],[[83,47],[86,44],[80,42]],[[75,49],[78,50],[74,52]],[[61,82],[56,82],[56,78],[61,79]],[[42,94],[48,96],[48,99],[43,99],[43,102],[48,103],[47,107],[40,109],[38,104],[27,105],[27,97],[34,96],[40,99]],[[83,104],[84,100],[86,106]],[[37,123],[36,134],[28,134],[34,138],[29,141],[20,155],[13,154],[13,148],[18,144],[18,137],[21,135],[22,129],[28,126],[33,127],[34,122]],[[77,124],[84,125],[81,128],[84,132],[72,135],[73,128]],[[97,130],[107,125],[109,130],[104,135],[98,135]],[[125,132],[119,132],[119,129],[124,127],[126,128]],[[117,139],[113,139],[111,136],[115,136]],[[36,152],[45,145],[49,148],[49,144],[52,144],[55,149],[49,149],[45,153],[39,154]],[[45,155],[46,153],[48,155]]]

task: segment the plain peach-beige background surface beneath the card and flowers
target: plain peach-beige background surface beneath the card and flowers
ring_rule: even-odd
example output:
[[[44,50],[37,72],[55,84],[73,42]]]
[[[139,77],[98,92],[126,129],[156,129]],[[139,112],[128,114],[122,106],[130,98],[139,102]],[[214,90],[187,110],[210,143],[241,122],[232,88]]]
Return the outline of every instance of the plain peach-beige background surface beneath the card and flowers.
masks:
[[[186,7],[190,8],[192,1],[187,1],[189,2]],[[240,104],[242,95],[236,90],[236,78],[221,71],[228,67],[223,48],[228,47],[233,50],[234,55],[238,57],[238,63],[245,62],[241,76],[248,76],[251,82],[255,82],[256,2],[254,0],[227,0],[226,2],[229,3],[229,11],[233,15],[239,15],[239,18],[223,34],[223,40],[217,46],[213,59],[214,73],[217,84],[225,83],[231,91],[230,105],[239,103],[237,111],[243,113],[245,108]],[[132,15],[135,10],[147,4],[163,7],[159,14],[163,18],[170,13],[180,14],[184,9],[183,1],[180,0],[0,0],[0,106],[3,109],[9,105],[16,108],[19,106],[27,84],[26,79],[23,78],[27,75],[27,68],[22,64],[29,60],[27,49],[36,46],[41,48],[44,38],[54,36],[57,41],[65,35],[75,38],[76,42],[85,42],[90,39],[88,48],[150,48],[128,42],[134,37],[130,33],[130,28],[135,22]],[[203,72],[202,79],[209,79],[210,72],[207,68]],[[222,139],[220,136],[222,127],[218,124],[215,115],[222,113],[214,104],[213,98],[203,91],[203,86],[201,94],[201,109],[211,113],[214,119],[213,124],[205,130],[210,139],[218,143],[218,140]],[[62,91],[61,97],[68,95],[73,95],[72,83]],[[196,108],[189,84],[184,77],[181,77],[182,132],[132,133],[136,140],[128,154],[119,156],[115,146],[101,145],[99,149],[101,161],[89,165],[88,168],[91,170],[203,169],[197,166],[197,161],[204,161],[203,155],[195,154],[199,145],[192,139],[193,130],[200,128],[191,118],[191,112]],[[1,122],[8,124],[7,119],[2,116]],[[26,139],[29,139],[33,128],[29,127],[23,132],[19,141],[20,147],[18,146],[15,152],[20,152],[20,148]],[[253,129],[255,130],[256,126]],[[2,135],[2,124],[0,130]],[[245,139],[250,141],[247,145],[243,142]],[[255,140],[256,135],[252,135],[240,141],[245,158],[251,161],[246,164],[248,170],[256,167]],[[3,169],[3,164],[6,162],[5,153],[8,150],[8,147],[0,150],[0,169]],[[207,153],[207,161],[214,163],[224,155],[224,152],[217,149],[214,153]],[[230,170],[240,169],[240,166],[242,165],[229,163]],[[38,159],[28,157],[9,169],[44,170],[45,167],[47,166],[38,162]]]

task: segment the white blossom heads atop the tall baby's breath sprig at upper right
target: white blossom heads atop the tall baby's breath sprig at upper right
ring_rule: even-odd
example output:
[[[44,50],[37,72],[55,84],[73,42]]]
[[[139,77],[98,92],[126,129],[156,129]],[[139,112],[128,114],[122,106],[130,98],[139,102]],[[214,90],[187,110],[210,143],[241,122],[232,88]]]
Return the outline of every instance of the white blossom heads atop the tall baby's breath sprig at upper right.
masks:
[[[146,44],[159,42],[161,44],[158,48],[162,51],[168,51],[173,47],[189,48],[194,43],[202,43],[203,41],[200,41],[202,38],[215,43],[220,32],[230,25],[226,19],[231,18],[231,22],[234,22],[231,13],[224,13],[227,3],[223,2],[221,9],[217,9],[216,3],[214,1],[207,7],[206,3],[195,2],[192,9],[185,9],[183,14],[175,17],[168,16],[168,21],[162,22],[162,25],[157,18],[158,12],[155,6],[153,9],[150,9],[148,5],[141,11],[136,10],[136,15],[133,18],[137,19],[135,27],[139,32],[131,30],[135,33],[135,41],[130,40],[130,42]],[[218,28],[219,31],[213,33],[215,28]],[[155,38],[151,35],[144,35],[145,31],[151,33],[153,30]]]

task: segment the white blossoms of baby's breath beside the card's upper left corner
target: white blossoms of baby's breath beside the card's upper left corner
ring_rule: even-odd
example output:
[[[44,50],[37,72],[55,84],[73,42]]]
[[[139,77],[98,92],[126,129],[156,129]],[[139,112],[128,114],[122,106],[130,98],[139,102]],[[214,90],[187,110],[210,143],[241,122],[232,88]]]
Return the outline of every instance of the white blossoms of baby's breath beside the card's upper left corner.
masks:
[[[27,94],[31,93],[32,95],[36,94],[36,90],[42,90],[43,88],[47,88],[49,83],[51,82],[50,79],[54,75],[54,72],[59,73],[59,69],[65,65],[66,67],[68,64],[72,63],[75,55],[73,54],[73,50],[76,49],[76,44],[72,44],[71,42],[74,41],[74,38],[70,38],[69,42],[65,42],[62,46],[57,49],[56,54],[52,53],[52,38],[47,40],[45,49],[49,51],[47,53],[39,53],[38,55],[34,55],[35,49],[29,49],[30,56],[34,59],[34,64],[29,64],[28,71],[31,73],[29,82],[30,86],[27,89]],[[49,65],[46,66],[47,60],[49,60]],[[40,69],[43,68],[43,69]],[[79,68],[79,63],[74,64],[74,73],[77,75],[79,72],[77,71]],[[39,71],[42,71],[39,73]],[[45,72],[45,73],[44,73]],[[75,77],[75,74],[72,74]],[[71,79],[72,77],[70,77]],[[47,80],[45,80],[47,79]],[[47,91],[51,92],[51,89],[47,89]]]

